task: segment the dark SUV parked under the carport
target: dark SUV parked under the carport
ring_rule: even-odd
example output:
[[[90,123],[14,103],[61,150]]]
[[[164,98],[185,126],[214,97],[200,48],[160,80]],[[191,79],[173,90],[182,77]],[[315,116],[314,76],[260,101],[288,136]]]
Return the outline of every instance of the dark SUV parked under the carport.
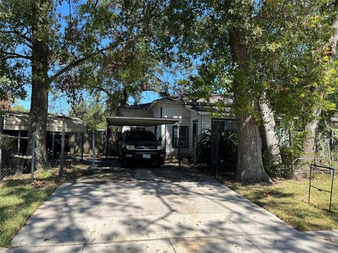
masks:
[[[161,167],[165,159],[165,150],[161,141],[161,138],[157,141],[151,131],[124,131],[118,142],[118,159],[123,167],[133,160],[156,162],[156,166]]]

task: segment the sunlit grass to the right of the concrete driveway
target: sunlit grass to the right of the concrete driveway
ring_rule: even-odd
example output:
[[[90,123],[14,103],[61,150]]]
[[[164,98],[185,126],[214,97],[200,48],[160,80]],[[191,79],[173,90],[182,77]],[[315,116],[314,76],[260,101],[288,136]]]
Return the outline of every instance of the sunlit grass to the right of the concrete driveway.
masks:
[[[336,175],[335,175],[336,176]],[[273,185],[243,185],[233,181],[224,183],[257,205],[275,214],[299,231],[338,229],[338,176],[334,180],[332,212],[328,212],[330,193],[311,189],[308,203],[308,180],[282,180]],[[330,175],[317,174],[312,185],[330,190]]]

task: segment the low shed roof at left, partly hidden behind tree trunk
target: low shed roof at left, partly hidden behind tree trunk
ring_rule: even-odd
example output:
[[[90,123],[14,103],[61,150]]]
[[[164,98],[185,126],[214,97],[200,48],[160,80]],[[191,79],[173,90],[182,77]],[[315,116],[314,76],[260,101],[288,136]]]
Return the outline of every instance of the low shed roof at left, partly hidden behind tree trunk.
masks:
[[[30,114],[28,112],[4,112],[4,130],[27,131]],[[77,117],[49,114],[47,117],[47,131],[62,131],[65,121],[66,132],[87,132],[87,124]]]

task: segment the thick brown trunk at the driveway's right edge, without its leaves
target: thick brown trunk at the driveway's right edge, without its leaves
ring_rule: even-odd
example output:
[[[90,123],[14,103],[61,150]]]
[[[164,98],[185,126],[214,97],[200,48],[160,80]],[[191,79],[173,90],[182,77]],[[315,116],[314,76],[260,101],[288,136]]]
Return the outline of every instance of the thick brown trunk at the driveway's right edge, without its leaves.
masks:
[[[236,179],[244,183],[270,182],[263,167],[258,121],[253,117],[253,112],[258,109],[258,96],[251,90],[251,52],[240,30],[234,28],[229,32],[232,61],[237,64],[234,74],[238,138]]]

